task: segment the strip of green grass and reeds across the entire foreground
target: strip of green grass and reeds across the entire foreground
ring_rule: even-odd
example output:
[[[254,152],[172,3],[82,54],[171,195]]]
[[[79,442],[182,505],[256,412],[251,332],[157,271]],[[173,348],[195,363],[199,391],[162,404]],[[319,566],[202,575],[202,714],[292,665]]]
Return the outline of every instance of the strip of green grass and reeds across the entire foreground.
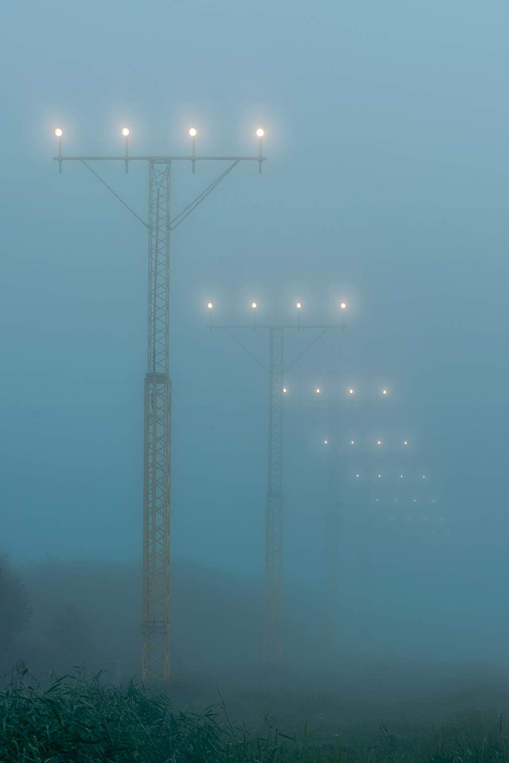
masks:
[[[503,717],[479,708],[434,727],[411,723],[341,723],[335,732],[304,723],[300,732],[264,732],[229,720],[225,703],[202,713],[176,710],[161,691],[134,683],[107,687],[98,675],[43,688],[18,671],[0,695],[0,761],[172,761],[172,763],[360,763],[360,761],[509,761]]]

